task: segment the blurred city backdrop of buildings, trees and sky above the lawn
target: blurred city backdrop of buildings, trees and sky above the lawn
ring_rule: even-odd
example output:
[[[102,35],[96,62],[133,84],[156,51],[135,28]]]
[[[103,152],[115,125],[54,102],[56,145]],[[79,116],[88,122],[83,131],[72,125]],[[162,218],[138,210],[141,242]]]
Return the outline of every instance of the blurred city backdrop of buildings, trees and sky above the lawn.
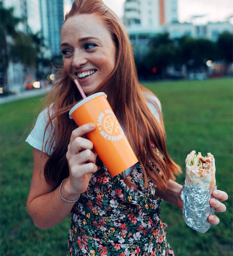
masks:
[[[193,79],[197,73],[204,79],[232,74],[232,0],[103,1],[124,22],[141,77]],[[73,0],[0,2],[1,13],[11,17],[4,19],[5,28],[16,28],[15,35],[7,31],[2,40],[10,49],[1,47],[1,55],[8,54],[0,72],[4,90],[22,91],[40,80],[45,83],[54,72],[50,63],[61,61],[60,31]],[[15,17],[27,20],[18,23]]]

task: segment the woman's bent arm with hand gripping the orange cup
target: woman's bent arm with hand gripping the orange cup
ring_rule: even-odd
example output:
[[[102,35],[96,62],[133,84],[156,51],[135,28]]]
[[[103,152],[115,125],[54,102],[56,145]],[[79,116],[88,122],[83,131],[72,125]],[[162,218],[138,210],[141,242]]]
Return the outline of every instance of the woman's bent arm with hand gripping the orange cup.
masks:
[[[72,132],[67,152],[70,175],[61,189],[61,194],[67,200],[75,200],[85,192],[91,175],[97,171],[96,154],[91,151],[93,143],[81,137],[91,130],[94,129],[83,125]],[[27,210],[34,224],[41,229],[48,229],[64,220],[74,205],[60,197],[59,187],[46,182],[44,165],[48,158],[47,154],[41,155],[40,150],[33,148],[34,167]]]

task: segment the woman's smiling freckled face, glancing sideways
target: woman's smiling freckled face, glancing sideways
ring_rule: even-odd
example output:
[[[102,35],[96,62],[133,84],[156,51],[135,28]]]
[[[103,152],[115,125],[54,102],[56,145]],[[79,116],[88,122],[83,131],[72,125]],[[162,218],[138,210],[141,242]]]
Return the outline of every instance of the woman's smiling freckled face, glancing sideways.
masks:
[[[95,90],[115,66],[116,46],[97,14],[69,17],[61,30],[61,52],[68,76],[86,94]]]

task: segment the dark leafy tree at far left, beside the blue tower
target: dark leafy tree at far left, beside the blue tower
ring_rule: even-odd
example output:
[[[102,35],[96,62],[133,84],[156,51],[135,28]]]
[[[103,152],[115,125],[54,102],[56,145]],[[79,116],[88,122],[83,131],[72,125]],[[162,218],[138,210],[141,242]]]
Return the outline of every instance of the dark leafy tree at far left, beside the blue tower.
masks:
[[[36,68],[44,62],[41,46],[44,46],[40,32],[33,34],[27,26],[27,33],[17,31],[16,26],[26,18],[17,18],[13,14],[14,9],[6,9],[1,5],[1,73],[4,91],[8,89],[7,69],[9,61],[24,65],[23,72],[26,77],[26,68]]]

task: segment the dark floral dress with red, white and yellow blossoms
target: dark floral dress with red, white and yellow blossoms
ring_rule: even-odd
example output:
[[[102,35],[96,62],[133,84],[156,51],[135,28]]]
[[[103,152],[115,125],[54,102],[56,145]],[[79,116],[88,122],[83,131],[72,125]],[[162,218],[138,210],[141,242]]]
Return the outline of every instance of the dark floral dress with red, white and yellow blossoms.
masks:
[[[126,177],[137,186],[130,188],[120,174],[112,177],[98,157],[96,165],[87,191],[71,210],[67,256],[174,255],[167,224],[159,217],[163,199],[156,198],[151,181],[144,189],[141,165],[135,164]]]

